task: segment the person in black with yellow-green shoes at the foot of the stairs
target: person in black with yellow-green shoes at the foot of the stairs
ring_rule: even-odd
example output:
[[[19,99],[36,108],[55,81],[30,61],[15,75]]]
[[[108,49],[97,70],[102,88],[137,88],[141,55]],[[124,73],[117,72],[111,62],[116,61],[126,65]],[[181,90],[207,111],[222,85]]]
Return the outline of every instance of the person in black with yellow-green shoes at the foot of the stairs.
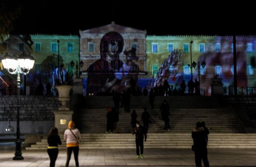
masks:
[[[136,159],[139,158],[139,148],[141,148],[141,158],[144,158],[144,155],[143,155],[143,149],[144,149],[143,139],[144,139],[144,136],[145,136],[145,141],[146,141],[147,135],[144,131],[143,126],[140,126],[139,121],[136,122],[136,127],[134,128],[132,134],[135,134],[135,136],[136,136],[136,138],[135,138],[136,154],[137,154]]]

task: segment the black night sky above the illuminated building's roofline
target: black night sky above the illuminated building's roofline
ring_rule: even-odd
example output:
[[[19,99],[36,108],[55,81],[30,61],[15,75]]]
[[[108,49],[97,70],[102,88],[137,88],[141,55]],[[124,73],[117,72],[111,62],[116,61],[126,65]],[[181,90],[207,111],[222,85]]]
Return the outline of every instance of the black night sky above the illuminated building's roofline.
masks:
[[[23,0],[23,12],[15,22],[12,33],[79,34],[79,29],[104,26],[115,21],[123,26],[146,29],[151,35],[256,34],[252,5],[211,3]]]

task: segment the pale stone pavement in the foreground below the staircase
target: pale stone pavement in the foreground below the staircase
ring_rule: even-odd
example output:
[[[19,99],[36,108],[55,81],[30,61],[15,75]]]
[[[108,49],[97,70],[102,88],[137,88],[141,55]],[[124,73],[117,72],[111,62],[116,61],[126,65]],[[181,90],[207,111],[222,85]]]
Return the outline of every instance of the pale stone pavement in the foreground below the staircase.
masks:
[[[49,167],[46,150],[23,150],[24,160],[12,160],[15,148],[0,147],[0,167]],[[136,160],[135,149],[80,149],[80,167],[193,167],[194,154],[190,149],[145,148],[145,157]],[[254,149],[208,149],[211,167],[255,167]],[[64,167],[65,150],[60,150],[56,167]],[[70,167],[75,166],[73,154]]]

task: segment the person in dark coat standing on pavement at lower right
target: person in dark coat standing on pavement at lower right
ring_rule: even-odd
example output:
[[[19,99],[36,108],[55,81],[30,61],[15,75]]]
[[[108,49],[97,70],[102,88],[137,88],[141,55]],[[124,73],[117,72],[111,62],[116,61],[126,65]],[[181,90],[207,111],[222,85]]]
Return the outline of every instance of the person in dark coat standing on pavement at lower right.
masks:
[[[202,167],[202,160],[205,167],[209,167],[207,158],[207,140],[204,127],[200,122],[197,122],[196,127],[192,131],[193,151],[195,153],[195,165]]]

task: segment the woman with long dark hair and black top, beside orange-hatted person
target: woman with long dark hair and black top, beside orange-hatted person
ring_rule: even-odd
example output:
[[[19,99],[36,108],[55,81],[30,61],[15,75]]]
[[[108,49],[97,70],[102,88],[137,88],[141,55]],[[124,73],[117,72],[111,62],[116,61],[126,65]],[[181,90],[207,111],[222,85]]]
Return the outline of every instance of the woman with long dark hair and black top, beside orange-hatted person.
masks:
[[[58,129],[56,127],[52,127],[49,136],[47,138],[48,149],[47,153],[50,157],[50,167],[55,166],[56,159],[58,157],[59,149],[58,144],[61,145],[61,138],[58,135]]]

